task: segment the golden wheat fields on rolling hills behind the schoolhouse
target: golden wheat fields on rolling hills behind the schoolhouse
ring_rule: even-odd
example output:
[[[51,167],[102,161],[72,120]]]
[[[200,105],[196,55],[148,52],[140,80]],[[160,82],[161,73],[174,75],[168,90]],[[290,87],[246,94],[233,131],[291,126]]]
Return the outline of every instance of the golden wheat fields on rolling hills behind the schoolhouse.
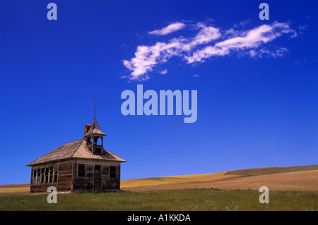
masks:
[[[224,190],[318,190],[318,165],[242,169],[214,174],[162,176],[124,180],[126,191],[216,188]],[[29,193],[30,184],[0,185],[0,195]]]

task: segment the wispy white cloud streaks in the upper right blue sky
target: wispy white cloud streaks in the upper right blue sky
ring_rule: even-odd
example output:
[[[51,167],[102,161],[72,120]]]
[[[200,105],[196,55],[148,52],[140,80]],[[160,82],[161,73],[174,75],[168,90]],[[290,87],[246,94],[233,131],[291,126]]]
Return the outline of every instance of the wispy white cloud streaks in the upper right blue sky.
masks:
[[[167,29],[169,26],[156,31],[164,33],[164,30],[166,30],[165,32],[172,30],[171,27]],[[206,23],[192,24],[191,27],[196,32],[194,37],[180,36],[167,42],[156,42],[151,46],[138,46],[135,57],[129,61],[123,61],[124,66],[131,71],[129,78],[131,80],[147,80],[148,73],[153,71],[155,66],[166,63],[173,56],[182,58],[188,64],[199,63],[213,56],[226,56],[235,52],[240,56],[283,56],[288,49],[283,47],[267,49],[266,44],[284,34],[290,34],[290,37],[297,36],[288,23],[278,22],[271,25],[261,25],[251,30],[231,28],[222,31],[220,28],[206,25]]]

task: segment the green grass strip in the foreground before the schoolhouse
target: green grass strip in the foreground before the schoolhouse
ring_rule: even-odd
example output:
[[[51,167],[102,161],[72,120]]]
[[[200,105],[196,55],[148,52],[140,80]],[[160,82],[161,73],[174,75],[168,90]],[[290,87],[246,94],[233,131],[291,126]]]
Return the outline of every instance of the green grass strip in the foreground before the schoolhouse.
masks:
[[[0,210],[318,210],[318,191],[272,191],[269,204],[255,190],[184,189],[151,192],[1,195]]]

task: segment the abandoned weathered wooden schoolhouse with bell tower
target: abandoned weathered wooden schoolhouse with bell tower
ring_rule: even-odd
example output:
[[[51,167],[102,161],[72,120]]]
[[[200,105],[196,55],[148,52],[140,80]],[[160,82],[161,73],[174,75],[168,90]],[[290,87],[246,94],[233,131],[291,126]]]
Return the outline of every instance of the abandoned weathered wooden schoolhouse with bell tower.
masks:
[[[83,139],[27,164],[32,166],[30,193],[47,192],[49,186],[57,192],[73,193],[119,190],[120,164],[126,160],[104,149],[105,135],[94,118],[91,125],[86,124]]]

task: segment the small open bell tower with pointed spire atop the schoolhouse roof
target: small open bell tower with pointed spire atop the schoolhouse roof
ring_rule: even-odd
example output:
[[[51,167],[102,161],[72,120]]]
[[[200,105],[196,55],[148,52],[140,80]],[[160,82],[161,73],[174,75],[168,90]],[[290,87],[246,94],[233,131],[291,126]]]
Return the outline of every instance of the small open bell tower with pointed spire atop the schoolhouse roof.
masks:
[[[95,118],[95,95],[94,95],[94,120],[91,125],[86,124],[84,128],[84,139],[86,140],[86,146],[93,154],[102,154],[103,152],[103,138],[106,135],[100,130],[100,126],[98,126],[98,122]]]

